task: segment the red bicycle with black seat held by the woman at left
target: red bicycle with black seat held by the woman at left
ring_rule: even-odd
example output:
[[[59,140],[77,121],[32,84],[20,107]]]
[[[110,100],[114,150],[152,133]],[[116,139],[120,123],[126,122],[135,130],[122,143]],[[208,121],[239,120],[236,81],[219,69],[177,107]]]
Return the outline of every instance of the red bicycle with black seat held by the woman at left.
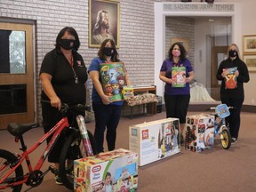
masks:
[[[35,188],[42,183],[44,180],[44,175],[49,171],[54,174],[59,173],[63,184],[67,188],[73,189],[73,161],[75,159],[87,156],[88,154],[86,154],[86,149],[84,149],[83,135],[79,131],[80,127],[77,129],[77,127],[74,127],[73,124],[68,124],[67,114],[71,112],[74,119],[76,117],[77,124],[80,126],[81,122],[78,122],[78,119],[81,119],[81,116],[78,116],[77,118],[76,114],[77,110],[81,109],[86,110],[88,107],[81,104],[69,107],[67,104],[62,104],[60,109],[62,118],[60,121],[54,125],[49,132],[46,132],[44,136],[31,148],[27,148],[22,135],[23,133],[38,127],[39,124],[12,123],[8,125],[7,130],[15,137],[15,142],[20,140],[20,150],[22,153],[11,153],[10,151],[0,149],[0,190],[7,191],[7,189],[9,189],[9,191],[19,192],[23,183],[26,183],[31,188]],[[96,142],[92,136],[92,133],[89,131],[87,132],[91,142],[92,151],[94,154],[97,154]],[[46,157],[49,155],[49,151],[51,151],[56,141],[60,138],[60,134],[63,134],[66,138],[65,144],[60,153],[60,172],[57,172],[57,170],[51,165],[46,171],[42,172],[42,165],[44,164]],[[50,136],[52,136],[52,139],[47,144],[42,156],[39,157],[38,162],[33,169],[30,164],[29,154],[34,152],[36,148],[44,143],[44,141]],[[92,153],[90,155],[92,155]],[[25,174],[22,168],[22,163],[24,161],[26,161],[28,165],[28,172]]]

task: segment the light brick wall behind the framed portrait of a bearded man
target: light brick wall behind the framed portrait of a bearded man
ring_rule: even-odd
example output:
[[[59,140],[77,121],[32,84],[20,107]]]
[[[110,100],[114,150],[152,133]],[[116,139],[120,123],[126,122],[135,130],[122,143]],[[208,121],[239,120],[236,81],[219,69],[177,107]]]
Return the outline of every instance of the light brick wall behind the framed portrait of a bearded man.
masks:
[[[120,0],[120,59],[127,66],[132,84],[154,84],[154,2]],[[175,1],[169,1],[175,2]],[[180,1],[177,1],[180,2]],[[97,48],[88,47],[88,0],[0,0],[0,21],[34,22],[36,26],[37,121],[41,122],[39,68],[46,52],[54,48],[61,28],[76,28],[79,52],[88,67]],[[90,84],[92,89],[92,83]]]

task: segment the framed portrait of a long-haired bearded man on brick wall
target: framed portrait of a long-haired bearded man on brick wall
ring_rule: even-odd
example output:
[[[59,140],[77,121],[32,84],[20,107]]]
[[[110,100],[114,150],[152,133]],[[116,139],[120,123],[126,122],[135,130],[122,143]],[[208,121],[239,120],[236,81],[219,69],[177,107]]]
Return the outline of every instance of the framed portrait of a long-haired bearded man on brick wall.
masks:
[[[119,48],[119,31],[120,2],[89,0],[89,47],[100,47],[106,38],[110,38]]]

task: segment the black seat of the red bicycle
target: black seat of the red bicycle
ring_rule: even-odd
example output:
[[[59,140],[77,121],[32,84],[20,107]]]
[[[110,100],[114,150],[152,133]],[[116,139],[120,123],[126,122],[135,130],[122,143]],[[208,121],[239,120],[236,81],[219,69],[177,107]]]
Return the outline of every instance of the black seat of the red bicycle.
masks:
[[[20,137],[24,132],[28,132],[28,130],[38,127],[39,124],[17,124],[12,123],[8,124],[7,131],[10,132],[15,137]]]

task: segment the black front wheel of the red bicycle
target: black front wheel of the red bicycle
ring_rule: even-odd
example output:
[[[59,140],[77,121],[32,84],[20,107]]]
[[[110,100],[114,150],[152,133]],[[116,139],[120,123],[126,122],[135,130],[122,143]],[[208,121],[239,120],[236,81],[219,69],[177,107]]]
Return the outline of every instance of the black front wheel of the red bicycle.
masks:
[[[92,132],[87,132],[91,141],[93,154],[97,155],[96,141]],[[71,190],[74,188],[74,160],[86,156],[84,147],[82,146],[80,132],[73,132],[68,137],[68,140],[65,141],[60,153],[60,178],[63,184]]]

